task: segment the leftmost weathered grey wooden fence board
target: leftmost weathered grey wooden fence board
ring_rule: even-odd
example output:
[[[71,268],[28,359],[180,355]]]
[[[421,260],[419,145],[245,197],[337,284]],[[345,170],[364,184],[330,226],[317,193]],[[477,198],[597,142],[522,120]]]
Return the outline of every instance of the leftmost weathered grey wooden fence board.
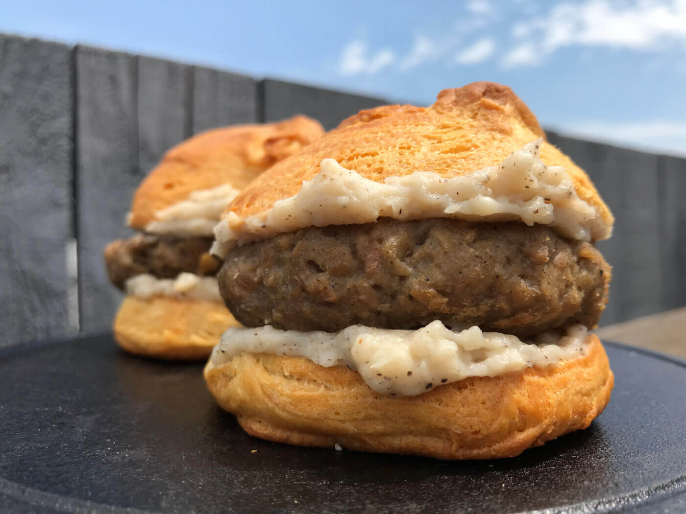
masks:
[[[71,48],[0,34],[0,347],[75,333]]]

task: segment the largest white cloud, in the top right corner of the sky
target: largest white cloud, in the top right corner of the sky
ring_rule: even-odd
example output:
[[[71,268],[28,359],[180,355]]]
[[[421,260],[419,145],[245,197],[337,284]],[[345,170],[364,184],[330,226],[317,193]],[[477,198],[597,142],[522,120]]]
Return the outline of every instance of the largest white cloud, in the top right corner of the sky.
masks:
[[[519,42],[502,58],[504,68],[541,64],[545,56],[571,45],[647,51],[678,42],[686,47],[686,0],[560,3],[515,25],[512,36]]]

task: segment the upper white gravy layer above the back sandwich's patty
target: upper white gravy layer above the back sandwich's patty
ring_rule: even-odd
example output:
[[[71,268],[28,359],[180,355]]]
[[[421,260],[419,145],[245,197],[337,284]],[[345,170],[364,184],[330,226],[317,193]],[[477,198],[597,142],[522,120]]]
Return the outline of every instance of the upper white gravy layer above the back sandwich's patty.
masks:
[[[150,234],[211,236],[228,204],[240,193],[229,184],[193,191],[183,201],[155,213],[156,221],[145,226]]]

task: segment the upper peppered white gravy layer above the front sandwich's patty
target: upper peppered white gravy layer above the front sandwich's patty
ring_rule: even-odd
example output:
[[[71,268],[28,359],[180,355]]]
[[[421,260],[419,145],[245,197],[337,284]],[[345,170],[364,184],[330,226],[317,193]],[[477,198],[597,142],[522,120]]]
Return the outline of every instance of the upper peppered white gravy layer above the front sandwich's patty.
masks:
[[[598,240],[610,236],[595,208],[578,197],[563,167],[547,167],[539,157],[542,139],[514,151],[498,166],[442,178],[416,171],[383,182],[363,178],[333,159],[303,182],[298,194],[241,218],[230,212],[215,227],[211,252],[225,257],[235,245],[283,232],[327,225],[394,219],[456,218],[465,221],[521,220],[551,225],[565,237]]]

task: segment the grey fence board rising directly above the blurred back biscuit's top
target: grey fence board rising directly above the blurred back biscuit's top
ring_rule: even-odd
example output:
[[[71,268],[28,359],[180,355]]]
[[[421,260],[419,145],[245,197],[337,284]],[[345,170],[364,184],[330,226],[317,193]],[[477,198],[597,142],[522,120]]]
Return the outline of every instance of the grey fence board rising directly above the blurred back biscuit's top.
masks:
[[[193,66],[193,134],[224,125],[257,121],[257,84],[237,75]]]

